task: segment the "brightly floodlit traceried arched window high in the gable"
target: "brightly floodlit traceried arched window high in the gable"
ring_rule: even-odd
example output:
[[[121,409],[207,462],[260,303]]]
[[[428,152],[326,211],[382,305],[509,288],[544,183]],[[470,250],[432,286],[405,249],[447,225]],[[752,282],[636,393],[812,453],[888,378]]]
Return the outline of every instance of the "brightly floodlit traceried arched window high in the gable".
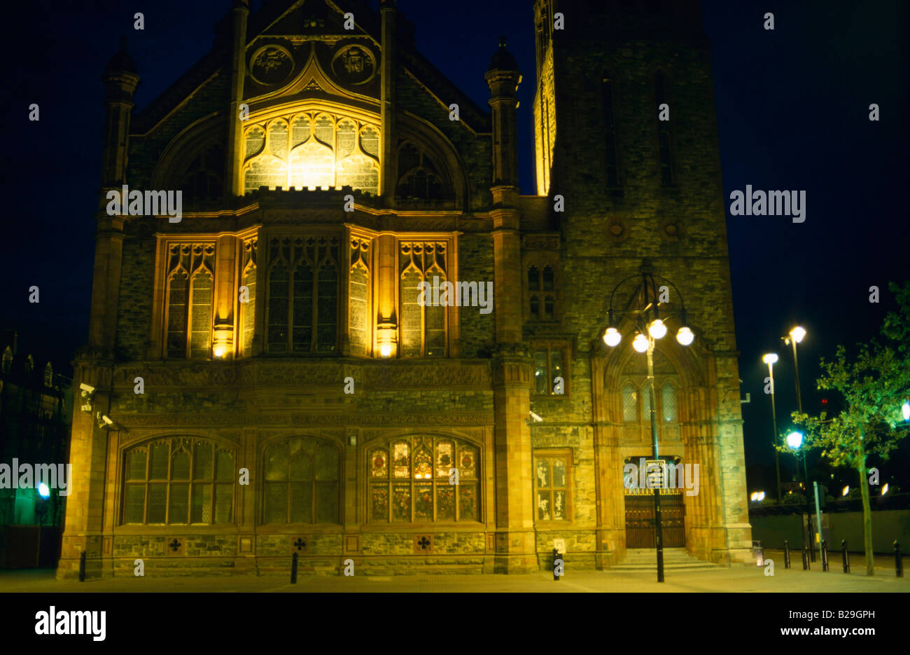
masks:
[[[244,192],[342,189],[379,193],[379,127],[317,110],[244,130]]]

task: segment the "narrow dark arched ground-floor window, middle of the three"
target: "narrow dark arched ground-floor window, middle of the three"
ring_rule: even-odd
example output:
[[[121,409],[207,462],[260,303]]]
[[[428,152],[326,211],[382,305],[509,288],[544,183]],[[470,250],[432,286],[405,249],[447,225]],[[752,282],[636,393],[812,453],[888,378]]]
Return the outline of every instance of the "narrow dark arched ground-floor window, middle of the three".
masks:
[[[268,446],[263,523],[339,523],[339,449],[300,436]]]

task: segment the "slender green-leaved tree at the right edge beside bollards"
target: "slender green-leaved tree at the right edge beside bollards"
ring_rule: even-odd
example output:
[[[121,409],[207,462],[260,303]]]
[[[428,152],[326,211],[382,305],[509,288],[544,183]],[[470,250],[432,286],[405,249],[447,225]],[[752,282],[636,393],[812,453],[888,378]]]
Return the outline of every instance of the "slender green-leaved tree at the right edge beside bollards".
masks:
[[[885,316],[881,335],[857,344],[851,357],[838,345],[834,359],[820,362],[819,389],[832,390],[844,398],[843,410],[832,418],[794,412],[804,428],[804,447],[822,448],[822,456],[834,466],[852,466],[859,474],[863,494],[865,572],[873,575],[872,511],[866,461],[870,455],[883,460],[906,435],[896,426],[903,423],[901,404],[910,395],[910,282],[889,285],[897,300],[897,312]]]

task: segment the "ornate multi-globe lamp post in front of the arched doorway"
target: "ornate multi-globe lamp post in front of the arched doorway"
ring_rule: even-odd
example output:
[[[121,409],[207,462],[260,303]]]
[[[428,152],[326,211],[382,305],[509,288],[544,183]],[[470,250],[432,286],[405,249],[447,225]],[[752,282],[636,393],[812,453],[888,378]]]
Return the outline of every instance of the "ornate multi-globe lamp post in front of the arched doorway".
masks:
[[[666,282],[661,289],[665,289],[665,295],[658,293],[657,279]],[[638,306],[628,310],[614,310],[613,298],[622,285],[628,281],[638,280],[638,286],[634,292],[634,298],[638,301]],[[654,344],[658,339],[666,336],[667,326],[664,319],[676,315],[670,312],[661,312],[662,298],[669,299],[669,290],[672,287],[673,292],[680,299],[680,319],[681,327],[676,333],[676,341],[682,345],[689,345],[693,342],[695,335],[686,324],[685,303],[682,302],[682,294],[676,288],[672,281],[655,276],[650,272],[642,271],[637,275],[632,275],[625,280],[620,281],[610,294],[610,325],[603,334],[603,343],[611,348],[619,345],[622,341],[622,334],[619,331],[619,319],[623,316],[630,317],[635,323],[636,334],[632,339],[632,348],[638,353],[646,353],[648,360],[648,393],[651,396],[651,444],[652,456],[659,460],[659,449],[657,445],[657,410],[654,394]],[[663,486],[663,480],[661,481]],[[661,494],[660,487],[654,487],[654,527],[657,537],[657,581],[663,582],[663,534],[661,527]]]

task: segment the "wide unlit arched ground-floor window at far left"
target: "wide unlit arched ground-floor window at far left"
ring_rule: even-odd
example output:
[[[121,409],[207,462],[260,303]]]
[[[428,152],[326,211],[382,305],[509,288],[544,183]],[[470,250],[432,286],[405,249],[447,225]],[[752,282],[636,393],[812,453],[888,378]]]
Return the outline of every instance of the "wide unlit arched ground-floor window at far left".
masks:
[[[234,453],[214,442],[173,437],[124,453],[124,524],[231,523]]]

